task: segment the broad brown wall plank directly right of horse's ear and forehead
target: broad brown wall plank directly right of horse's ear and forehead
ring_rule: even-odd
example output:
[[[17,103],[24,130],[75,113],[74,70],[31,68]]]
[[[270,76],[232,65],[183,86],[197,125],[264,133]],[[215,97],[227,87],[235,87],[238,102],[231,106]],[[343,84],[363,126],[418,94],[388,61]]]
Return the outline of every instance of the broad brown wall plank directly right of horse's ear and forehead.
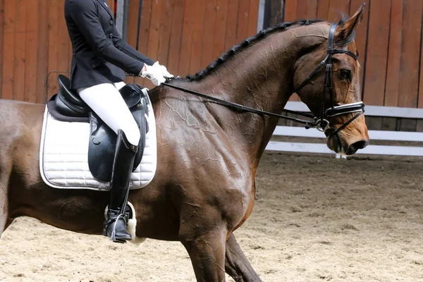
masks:
[[[372,1],[369,17],[364,103],[381,106],[384,104],[385,95],[386,58],[391,20],[390,2]]]

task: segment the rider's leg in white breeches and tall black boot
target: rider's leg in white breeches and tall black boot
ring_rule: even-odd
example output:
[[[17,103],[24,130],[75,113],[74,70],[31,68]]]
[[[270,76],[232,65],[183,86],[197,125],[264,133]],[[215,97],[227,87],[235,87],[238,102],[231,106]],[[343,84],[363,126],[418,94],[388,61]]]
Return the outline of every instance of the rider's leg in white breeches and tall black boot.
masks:
[[[121,85],[116,85],[119,87]],[[126,229],[127,222],[121,216],[129,189],[130,173],[133,169],[140,130],[123,101],[120,92],[110,83],[78,89],[81,99],[102,118],[104,123],[118,135],[113,171],[111,176],[110,202],[103,235],[115,242],[124,243],[131,236]]]

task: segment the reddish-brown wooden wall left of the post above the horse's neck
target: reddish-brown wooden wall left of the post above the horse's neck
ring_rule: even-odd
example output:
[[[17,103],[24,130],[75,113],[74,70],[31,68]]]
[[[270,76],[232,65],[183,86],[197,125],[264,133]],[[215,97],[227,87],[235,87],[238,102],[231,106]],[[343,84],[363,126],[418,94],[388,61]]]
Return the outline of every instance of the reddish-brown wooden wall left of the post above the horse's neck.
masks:
[[[108,0],[111,8],[114,1]],[[64,0],[0,0],[0,98],[44,103],[69,71]],[[135,47],[138,0],[130,1],[128,42]],[[139,50],[174,75],[200,71],[257,32],[259,0],[143,0]],[[133,81],[133,78],[128,78]],[[137,79],[147,87],[151,82]],[[47,85],[47,87],[44,87]]]

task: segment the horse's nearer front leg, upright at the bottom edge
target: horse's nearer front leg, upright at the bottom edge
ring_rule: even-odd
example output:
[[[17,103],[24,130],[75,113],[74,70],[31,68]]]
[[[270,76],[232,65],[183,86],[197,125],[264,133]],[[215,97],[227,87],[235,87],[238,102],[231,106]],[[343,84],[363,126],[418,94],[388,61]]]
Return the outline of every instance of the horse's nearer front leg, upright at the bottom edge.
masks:
[[[201,233],[194,235],[199,232],[197,228],[202,229]],[[197,281],[225,281],[226,230],[197,228],[186,228],[186,232],[179,234],[180,242],[190,255]]]

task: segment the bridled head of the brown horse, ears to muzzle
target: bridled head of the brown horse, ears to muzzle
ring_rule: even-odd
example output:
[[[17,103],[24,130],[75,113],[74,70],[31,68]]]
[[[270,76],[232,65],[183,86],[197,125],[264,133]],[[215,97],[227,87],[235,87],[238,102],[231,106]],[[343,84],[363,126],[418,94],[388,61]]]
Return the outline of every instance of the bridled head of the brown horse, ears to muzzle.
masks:
[[[314,29],[315,43],[300,54],[294,66],[295,92],[317,117],[328,137],[328,147],[348,155],[369,142],[354,41],[363,10],[364,5],[353,17],[343,17],[337,24],[318,24]],[[321,37],[327,40],[321,41]]]

